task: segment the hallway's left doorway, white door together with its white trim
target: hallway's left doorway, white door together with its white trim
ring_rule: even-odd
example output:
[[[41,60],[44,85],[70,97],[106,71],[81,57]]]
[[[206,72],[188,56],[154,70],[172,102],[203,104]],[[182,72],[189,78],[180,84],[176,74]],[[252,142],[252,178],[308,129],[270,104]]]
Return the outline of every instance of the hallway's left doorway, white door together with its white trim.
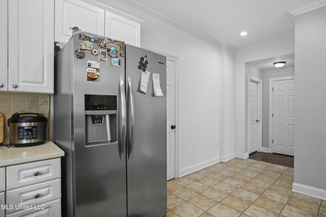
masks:
[[[248,152],[262,146],[262,80],[249,75],[248,81]]]

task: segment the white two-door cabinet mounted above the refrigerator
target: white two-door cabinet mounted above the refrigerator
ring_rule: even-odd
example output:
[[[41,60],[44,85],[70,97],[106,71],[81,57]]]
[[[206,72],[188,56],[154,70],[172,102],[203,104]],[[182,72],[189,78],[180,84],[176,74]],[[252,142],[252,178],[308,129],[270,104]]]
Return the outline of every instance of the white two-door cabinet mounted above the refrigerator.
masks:
[[[0,0],[1,1],[1,0]],[[116,13],[115,13],[116,12]],[[55,41],[66,43],[77,26],[97,34],[140,47],[142,20],[91,1],[56,0]]]

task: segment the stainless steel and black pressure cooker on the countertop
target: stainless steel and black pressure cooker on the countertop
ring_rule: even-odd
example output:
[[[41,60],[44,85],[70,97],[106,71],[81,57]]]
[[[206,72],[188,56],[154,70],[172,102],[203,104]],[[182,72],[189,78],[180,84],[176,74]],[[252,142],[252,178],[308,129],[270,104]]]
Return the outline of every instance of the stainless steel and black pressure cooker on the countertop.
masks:
[[[47,118],[40,113],[14,113],[8,119],[9,142],[15,146],[38,145],[46,140]]]

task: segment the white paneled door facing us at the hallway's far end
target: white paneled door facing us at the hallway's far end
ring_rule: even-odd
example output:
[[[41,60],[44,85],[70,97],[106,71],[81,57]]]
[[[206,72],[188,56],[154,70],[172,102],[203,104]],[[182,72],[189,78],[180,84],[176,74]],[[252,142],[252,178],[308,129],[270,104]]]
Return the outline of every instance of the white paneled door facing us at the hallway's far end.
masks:
[[[273,152],[294,156],[294,79],[273,82]]]

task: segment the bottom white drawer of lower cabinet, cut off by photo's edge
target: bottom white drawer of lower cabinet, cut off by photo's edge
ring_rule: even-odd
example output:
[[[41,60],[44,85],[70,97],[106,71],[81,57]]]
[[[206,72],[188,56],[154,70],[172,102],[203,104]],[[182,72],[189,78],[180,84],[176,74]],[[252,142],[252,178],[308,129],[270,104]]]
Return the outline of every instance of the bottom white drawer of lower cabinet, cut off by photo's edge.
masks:
[[[53,200],[47,203],[43,203],[40,205],[32,206],[32,209],[29,210],[21,210],[9,215],[7,217],[59,217],[61,216],[61,199]]]

